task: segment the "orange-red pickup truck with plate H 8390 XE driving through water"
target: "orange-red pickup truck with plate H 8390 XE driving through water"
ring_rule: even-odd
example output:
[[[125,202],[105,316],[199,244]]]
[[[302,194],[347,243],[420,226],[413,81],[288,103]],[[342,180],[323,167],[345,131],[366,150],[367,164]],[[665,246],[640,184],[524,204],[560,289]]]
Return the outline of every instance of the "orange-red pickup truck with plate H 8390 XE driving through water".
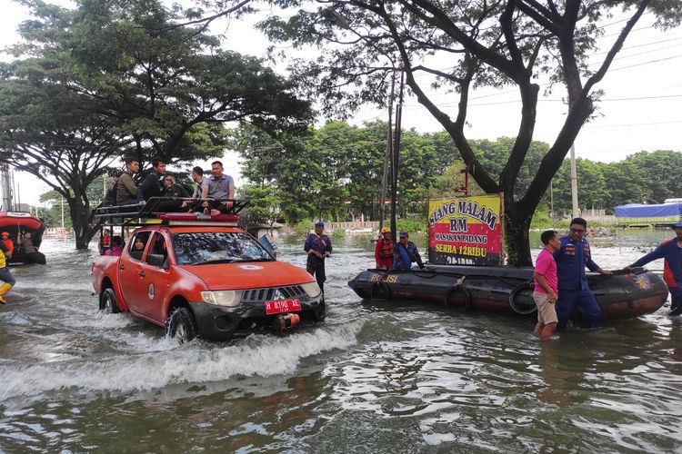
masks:
[[[97,257],[92,271],[100,310],[130,312],[180,342],[286,331],[325,318],[315,279],[276,261],[236,222],[145,224],[120,257]]]

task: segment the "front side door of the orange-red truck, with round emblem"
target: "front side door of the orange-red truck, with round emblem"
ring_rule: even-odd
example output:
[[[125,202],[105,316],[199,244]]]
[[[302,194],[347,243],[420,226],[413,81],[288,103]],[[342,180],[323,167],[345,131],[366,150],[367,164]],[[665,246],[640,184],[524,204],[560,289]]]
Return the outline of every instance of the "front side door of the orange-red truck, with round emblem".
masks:
[[[139,311],[145,317],[163,323],[167,318],[164,299],[168,296],[170,281],[168,251],[161,232],[155,232],[152,236],[141,266],[144,276],[140,278],[140,283],[144,287],[145,303],[140,305]]]

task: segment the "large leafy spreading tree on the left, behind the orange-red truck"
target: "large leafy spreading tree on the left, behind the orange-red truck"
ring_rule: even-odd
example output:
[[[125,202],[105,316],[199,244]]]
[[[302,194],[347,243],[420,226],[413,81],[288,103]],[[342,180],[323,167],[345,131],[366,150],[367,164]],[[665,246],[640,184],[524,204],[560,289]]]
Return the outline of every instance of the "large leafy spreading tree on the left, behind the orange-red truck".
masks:
[[[85,190],[115,157],[187,163],[222,155],[226,122],[268,131],[308,123],[310,106],[292,81],[221,50],[201,25],[178,25],[186,15],[177,6],[24,3],[35,17],[14,49],[24,59],[0,68],[0,161],[65,197],[76,248],[95,232]]]

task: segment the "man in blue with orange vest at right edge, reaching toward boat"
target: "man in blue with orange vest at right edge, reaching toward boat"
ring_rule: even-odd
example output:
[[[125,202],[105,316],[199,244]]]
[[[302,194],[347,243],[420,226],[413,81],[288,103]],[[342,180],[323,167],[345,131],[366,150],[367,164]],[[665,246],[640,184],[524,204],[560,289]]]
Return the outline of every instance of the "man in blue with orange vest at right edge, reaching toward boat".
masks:
[[[682,221],[671,225],[675,238],[662,242],[654,251],[634,262],[630,267],[644,266],[656,259],[664,259],[663,279],[670,291],[670,314],[682,314]]]

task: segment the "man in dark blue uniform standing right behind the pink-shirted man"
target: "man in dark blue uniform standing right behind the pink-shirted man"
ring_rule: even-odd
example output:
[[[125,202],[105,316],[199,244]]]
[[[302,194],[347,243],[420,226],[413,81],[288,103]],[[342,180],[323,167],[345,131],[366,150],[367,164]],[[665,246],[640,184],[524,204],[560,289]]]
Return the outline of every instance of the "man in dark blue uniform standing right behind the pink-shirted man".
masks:
[[[589,251],[589,242],[585,239],[587,233],[587,221],[575,218],[571,221],[570,232],[561,237],[561,246],[554,252],[557,261],[557,277],[559,299],[557,300],[557,330],[566,328],[571,318],[573,308],[577,305],[587,326],[596,328],[599,326],[601,307],[597,303],[595,294],[589,290],[585,267],[589,271],[597,271],[600,274],[611,274],[611,271],[602,270],[597,263],[592,261]]]

